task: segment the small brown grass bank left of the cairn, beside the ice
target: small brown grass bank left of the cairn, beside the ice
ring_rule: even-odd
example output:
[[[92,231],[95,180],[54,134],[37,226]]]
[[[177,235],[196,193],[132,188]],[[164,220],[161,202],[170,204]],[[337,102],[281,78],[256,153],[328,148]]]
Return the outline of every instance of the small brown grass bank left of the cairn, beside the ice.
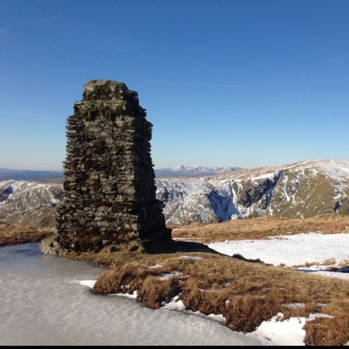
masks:
[[[49,229],[34,229],[23,225],[9,225],[0,222],[0,246],[39,242],[52,234],[53,230]]]

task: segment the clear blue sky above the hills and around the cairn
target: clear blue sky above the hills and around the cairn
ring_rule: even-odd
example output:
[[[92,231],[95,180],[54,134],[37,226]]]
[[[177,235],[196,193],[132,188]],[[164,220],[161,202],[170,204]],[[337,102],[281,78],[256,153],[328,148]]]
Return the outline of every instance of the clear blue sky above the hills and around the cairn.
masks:
[[[348,0],[0,8],[0,168],[61,170],[90,79],[138,91],[155,168],[349,158]]]

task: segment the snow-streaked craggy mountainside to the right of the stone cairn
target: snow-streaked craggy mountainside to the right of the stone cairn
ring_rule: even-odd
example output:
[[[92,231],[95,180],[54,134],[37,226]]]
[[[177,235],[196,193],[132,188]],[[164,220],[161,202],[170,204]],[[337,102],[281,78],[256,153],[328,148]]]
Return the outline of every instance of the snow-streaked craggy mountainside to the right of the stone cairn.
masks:
[[[214,177],[158,179],[171,224],[214,223],[269,214],[349,214],[349,160],[237,170]]]

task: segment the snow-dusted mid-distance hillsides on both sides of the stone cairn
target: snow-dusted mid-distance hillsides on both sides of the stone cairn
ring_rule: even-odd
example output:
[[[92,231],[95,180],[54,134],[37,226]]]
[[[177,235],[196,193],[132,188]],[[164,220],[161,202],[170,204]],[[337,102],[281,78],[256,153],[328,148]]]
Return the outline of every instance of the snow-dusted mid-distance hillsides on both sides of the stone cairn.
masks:
[[[211,177],[157,178],[168,224],[214,223],[268,214],[349,214],[349,160],[235,170]],[[52,226],[60,184],[0,181],[0,221]]]

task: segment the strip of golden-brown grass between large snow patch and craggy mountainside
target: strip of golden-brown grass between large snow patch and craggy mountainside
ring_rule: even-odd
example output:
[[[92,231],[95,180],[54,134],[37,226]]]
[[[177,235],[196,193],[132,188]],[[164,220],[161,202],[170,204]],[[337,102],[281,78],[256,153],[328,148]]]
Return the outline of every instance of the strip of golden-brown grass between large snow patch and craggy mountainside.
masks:
[[[349,216],[324,215],[306,219],[261,216],[207,225],[195,223],[172,229],[174,239],[193,239],[198,242],[265,239],[270,236],[315,231],[324,234],[349,233]]]

